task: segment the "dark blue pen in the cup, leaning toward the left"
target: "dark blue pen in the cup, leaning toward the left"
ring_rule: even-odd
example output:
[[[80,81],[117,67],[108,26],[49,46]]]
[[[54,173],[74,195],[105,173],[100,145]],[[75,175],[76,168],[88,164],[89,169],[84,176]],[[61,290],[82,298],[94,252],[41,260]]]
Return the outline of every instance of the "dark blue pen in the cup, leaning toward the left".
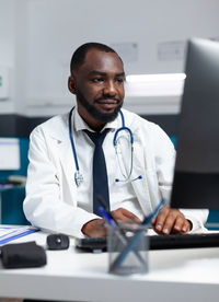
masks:
[[[106,208],[106,205],[105,205],[103,198],[101,196],[97,196],[96,198],[99,199],[100,204],[103,206],[103,207],[99,207],[99,210],[102,213],[103,218],[106,220],[108,225],[114,226],[114,231],[115,231],[116,235],[122,241],[122,243],[125,246],[127,246],[128,240],[127,240],[126,235],[120,231],[118,222],[114,219],[114,217],[111,214],[111,212],[108,212],[106,209],[104,209],[104,208]],[[145,260],[142,259],[141,255],[137,251],[135,251],[135,255],[137,256],[137,258],[140,260],[141,264],[145,264]]]

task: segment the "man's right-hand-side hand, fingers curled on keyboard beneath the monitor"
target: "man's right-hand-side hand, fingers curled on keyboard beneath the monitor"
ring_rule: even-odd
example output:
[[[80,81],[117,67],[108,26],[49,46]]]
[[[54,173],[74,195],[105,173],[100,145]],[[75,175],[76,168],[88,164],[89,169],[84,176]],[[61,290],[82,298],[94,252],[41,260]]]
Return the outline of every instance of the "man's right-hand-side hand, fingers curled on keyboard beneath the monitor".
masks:
[[[185,234],[191,231],[192,224],[177,209],[171,209],[164,206],[155,218],[152,219],[151,224],[158,234],[182,233]]]

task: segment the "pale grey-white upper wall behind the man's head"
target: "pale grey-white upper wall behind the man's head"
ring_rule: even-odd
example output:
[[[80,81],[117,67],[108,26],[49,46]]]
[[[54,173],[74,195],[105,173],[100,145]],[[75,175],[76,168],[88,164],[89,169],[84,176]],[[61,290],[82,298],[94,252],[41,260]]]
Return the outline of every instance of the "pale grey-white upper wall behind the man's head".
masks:
[[[0,0],[0,28],[8,26],[7,33],[0,30],[0,62],[5,58],[14,69],[15,95],[7,109],[30,115],[69,109],[70,57],[89,40],[118,46],[118,51],[125,46],[120,55],[127,73],[181,72],[183,58],[161,60],[159,46],[184,45],[192,36],[219,37],[218,12],[218,0]],[[127,44],[137,45],[134,59],[128,59]],[[129,97],[126,104],[141,113],[171,113],[177,112],[178,100]]]

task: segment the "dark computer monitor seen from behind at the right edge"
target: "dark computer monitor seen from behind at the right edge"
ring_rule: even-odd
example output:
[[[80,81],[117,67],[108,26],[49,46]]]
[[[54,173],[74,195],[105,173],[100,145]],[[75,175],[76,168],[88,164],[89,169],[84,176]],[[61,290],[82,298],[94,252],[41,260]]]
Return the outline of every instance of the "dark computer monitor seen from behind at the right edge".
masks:
[[[173,208],[219,209],[219,43],[188,42]]]

